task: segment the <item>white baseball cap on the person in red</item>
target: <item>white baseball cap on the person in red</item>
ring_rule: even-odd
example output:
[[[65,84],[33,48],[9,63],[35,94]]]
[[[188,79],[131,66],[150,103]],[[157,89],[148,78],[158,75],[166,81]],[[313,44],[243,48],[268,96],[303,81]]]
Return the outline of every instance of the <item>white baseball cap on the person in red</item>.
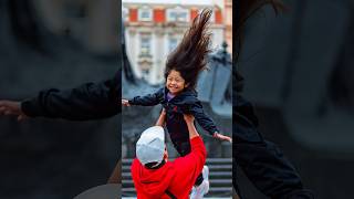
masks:
[[[165,153],[165,130],[160,126],[147,128],[136,143],[136,157],[143,165],[160,163]]]

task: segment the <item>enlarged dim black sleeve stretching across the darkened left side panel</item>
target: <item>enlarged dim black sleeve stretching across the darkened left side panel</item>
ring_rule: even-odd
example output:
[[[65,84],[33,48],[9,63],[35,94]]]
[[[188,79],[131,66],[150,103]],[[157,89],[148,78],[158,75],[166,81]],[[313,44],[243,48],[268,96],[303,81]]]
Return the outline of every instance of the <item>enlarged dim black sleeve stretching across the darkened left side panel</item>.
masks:
[[[121,112],[121,72],[100,83],[60,91],[41,91],[37,97],[21,103],[23,113],[30,117],[88,121],[111,117]]]

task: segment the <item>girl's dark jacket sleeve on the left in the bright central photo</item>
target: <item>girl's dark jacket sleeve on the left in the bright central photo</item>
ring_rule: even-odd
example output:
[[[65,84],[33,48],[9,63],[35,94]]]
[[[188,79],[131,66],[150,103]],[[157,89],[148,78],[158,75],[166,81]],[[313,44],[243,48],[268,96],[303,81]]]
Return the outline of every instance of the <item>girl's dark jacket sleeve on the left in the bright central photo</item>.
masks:
[[[164,88],[158,90],[154,94],[148,94],[145,96],[136,96],[129,100],[131,105],[140,105],[140,106],[155,106],[164,100]]]

